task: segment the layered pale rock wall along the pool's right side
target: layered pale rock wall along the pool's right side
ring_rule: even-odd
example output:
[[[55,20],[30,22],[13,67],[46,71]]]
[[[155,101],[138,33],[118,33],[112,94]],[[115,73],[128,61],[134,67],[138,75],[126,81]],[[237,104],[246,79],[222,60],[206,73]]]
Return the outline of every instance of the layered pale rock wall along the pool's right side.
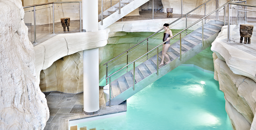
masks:
[[[232,28],[235,26],[231,25]],[[211,47],[214,79],[219,81],[219,89],[225,95],[225,108],[233,129],[256,130],[256,56],[226,38],[227,26],[223,26]]]

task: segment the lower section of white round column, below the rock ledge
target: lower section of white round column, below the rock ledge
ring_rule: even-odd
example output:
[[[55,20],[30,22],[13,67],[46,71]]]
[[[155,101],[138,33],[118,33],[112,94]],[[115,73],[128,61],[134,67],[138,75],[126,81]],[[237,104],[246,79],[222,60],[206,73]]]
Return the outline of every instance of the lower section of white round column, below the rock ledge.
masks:
[[[99,48],[83,51],[84,62],[84,113],[99,112]]]

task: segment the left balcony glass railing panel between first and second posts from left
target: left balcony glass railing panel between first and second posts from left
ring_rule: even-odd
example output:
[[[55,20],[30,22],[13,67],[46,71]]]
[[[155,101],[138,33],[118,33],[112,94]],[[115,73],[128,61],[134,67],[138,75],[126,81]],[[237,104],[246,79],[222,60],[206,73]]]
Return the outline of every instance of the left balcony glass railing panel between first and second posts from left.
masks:
[[[44,37],[52,33],[52,6],[41,5],[35,7],[36,38],[45,41]]]

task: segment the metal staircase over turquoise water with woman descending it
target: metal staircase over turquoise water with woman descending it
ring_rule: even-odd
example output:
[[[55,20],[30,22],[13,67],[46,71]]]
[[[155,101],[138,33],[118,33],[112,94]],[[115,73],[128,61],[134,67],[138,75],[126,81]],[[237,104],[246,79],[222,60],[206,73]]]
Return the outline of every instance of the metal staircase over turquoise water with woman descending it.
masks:
[[[230,0],[229,2],[231,1],[232,0]],[[202,5],[205,5],[205,3]],[[183,64],[185,61],[189,60],[193,56],[199,54],[201,51],[209,47],[218,36],[218,33],[221,31],[222,26],[226,25],[225,19],[220,20],[217,17],[217,13],[219,11],[225,11],[223,10],[224,6],[227,6],[227,3],[216,10],[211,10],[211,13],[207,15],[205,14],[204,17],[200,18],[188,27],[187,15],[194,10],[190,11],[188,14],[183,15],[183,17],[185,16],[186,18],[186,28],[175,34],[170,40],[171,45],[167,51],[167,55],[169,56],[170,61],[164,59],[164,65],[162,66],[159,66],[162,60],[162,51],[159,50],[163,43],[165,43],[166,41],[154,47],[152,50],[147,51],[146,54],[138,57],[136,60],[128,62],[129,51],[130,53],[134,54],[136,53],[136,49],[134,48],[137,47],[137,51],[141,50],[141,47],[145,47],[144,43],[142,45],[142,42],[144,42],[145,40],[147,41],[146,47],[148,48],[149,38],[152,37],[154,34],[160,32],[162,29],[154,33],[152,36],[141,41],[141,44],[138,43],[135,46],[129,48],[127,51],[123,52],[122,54],[116,56],[114,58],[116,59],[116,61],[112,59],[104,64],[107,67],[107,85],[103,88],[106,106],[110,104],[120,104],[129,97],[133,96],[135,93],[139,92],[141,89],[147,87],[149,84],[153,83],[157,79],[161,78],[163,75],[167,74],[171,70],[175,69],[179,65]],[[182,19],[183,17],[179,19]],[[176,21],[169,24],[169,27]],[[174,25],[183,26],[183,24],[184,23],[180,22],[178,24],[175,23]],[[124,61],[126,61],[126,57],[127,63],[123,65]],[[123,67],[112,74],[108,74],[108,69],[110,69],[109,67],[114,62],[117,62],[117,66]]]

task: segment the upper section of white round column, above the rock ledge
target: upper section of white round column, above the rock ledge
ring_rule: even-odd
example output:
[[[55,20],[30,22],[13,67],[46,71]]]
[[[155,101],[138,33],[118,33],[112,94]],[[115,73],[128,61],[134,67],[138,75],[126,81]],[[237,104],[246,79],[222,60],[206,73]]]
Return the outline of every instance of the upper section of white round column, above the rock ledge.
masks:
[[[98,31],[98,0],[82,0],[83,32]]]

